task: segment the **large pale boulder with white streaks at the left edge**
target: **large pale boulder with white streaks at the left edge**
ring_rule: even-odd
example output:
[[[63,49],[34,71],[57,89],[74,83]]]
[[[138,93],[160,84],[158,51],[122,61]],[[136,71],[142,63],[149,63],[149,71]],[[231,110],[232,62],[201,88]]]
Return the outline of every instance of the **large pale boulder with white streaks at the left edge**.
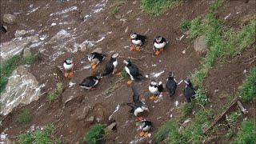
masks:
[[[42,85],[43,86],[43,85]],[[18,66],[11,74],[6,89],[1,93],[1,114],[9,114],[20,103],[29,104],[41,95],[41,88],[29,66]]]

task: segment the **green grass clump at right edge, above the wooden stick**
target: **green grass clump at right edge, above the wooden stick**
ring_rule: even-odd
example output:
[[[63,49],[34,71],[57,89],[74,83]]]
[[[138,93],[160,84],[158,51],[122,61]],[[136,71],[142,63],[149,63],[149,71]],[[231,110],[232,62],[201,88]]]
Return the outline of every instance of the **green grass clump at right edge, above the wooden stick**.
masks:
[[[250,70],[250,74],[246,77],[246,81],[242,84],[242,90],[238,92],[243,100],[248,102],[256,98],[256,67]]]

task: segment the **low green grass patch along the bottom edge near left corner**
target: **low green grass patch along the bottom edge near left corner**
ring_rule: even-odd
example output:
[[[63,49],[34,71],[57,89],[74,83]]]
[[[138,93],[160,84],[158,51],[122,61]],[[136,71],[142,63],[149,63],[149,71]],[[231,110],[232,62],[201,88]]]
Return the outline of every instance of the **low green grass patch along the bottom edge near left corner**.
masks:
[[[57,138],[53,138],[53,136],[51,135],[53,130],[54,130],[53,126],[45,126],[38,130],[26,131],[25,133],[18,135],[18,143],[22,143],[22,144],[61,143],[60,140],[58,140]]]

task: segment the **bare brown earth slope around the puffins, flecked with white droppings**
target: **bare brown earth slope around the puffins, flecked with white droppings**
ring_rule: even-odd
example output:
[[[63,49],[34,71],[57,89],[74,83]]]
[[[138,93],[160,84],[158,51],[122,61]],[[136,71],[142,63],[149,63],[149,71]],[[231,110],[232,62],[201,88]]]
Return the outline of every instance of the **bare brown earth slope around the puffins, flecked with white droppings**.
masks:
[[[18,22],[14,25],[6,25],[10,31],[3,33],[1,31],[1,42],[8,42],[14,38],[15,30],[44,30],[39,35],[47,35],[46,40],[54,37],[60,30],[74,32],[74,41],[66,46],[72,47],[74,42],[82,43],[86,39],[97,41],[105,36],[102,42],[98,42],[97,47],[101,47],[107,54],[107,58],[114,52],[118,52],[121,56],[118,58],[119,66],[122,65],[124,58],[130,57],[143,74],[164,73],[155,78],[158,81],[165,82],[167,74],[170,71],[174,71],[175,77],[178,82],[184,78],[190,76],[195,69],[200,66],[200,58],[197,56],[193,49],[193,40],[190,38],[182,38],[177,40],[183,33],[179,30],[178,26],[182,18],[192,19],[200,15],[206,14],[207,3],[205,1],[186,1],[182,4],[175,6],[172,10],[168,10],[166,14],[159,17],[153,17],[142,13],[140,6],[137,2],[133,5],[132,2],[127,1],[119,8],[118,14],[122,18],[126,18],[126,22],[120,21],[115,18],[114,14],[111,14],[111,10],[114,7],[114,0],[110,0],[106,3],[104,10],[98,14],[91,14],[93,6],[103,1],[2,1],[1,3],[1,17],[3,14],[18,14]],[[241,11],[239,18],[246,14],[250,14],[254,10],[255,2],[249,3],[227,1],[224,3],[225,8],[220,8],[218,15],[225,18],[230,13],[235,13],[236,10]],[[31,7],[38,8],[33,13],[28,13]],[[73,10],[68,13],[67,16],[61,17],[61,15],[53,15],[57,11],[65,10],[71,6],[78,6],[78,10]],[[234,9],[236,6],[237,8]],[[91,14],[85,22],[79,19],[79,10],[85,10],[86,14]],[[130,10],[132,10],[130,12]],[[130,12],[130,13],[129,13]],[[128,13],[128,14],[127,14]],[[58,18],[58,19],[57,19]],[[234,26],[237,21],[237,17],[230,18],[228,23],[230,26]],[[71,22],[66,25],[51,26],[53,22]],[[2,26],[1,22],[1,26]],[[128,32],[125,33],[128,26]],[[142,47],[142,50],[130,51],[129,47],[129,35],[130,32],[137,32],[138,34],[146,34],[147,42]],[[111,32],[111,33],[108,33]],[[158,57],[154,56],[152,50],[152,41],[155,36],[162,35],[168,40],[166,50]],[[186,34],[185,34],[186,35]],[[61,43],[60,43],[61,45]],[[40,46],[39,46],[40,48]],[[39,48],[34,49],[34,52],[38,52]],[[53,103],[46,102],[46,94],[42,96],[38,101],[31,102],[28,106],[18,106],[12,113],[3,118],[1,132],[6,130],[6,134],[9,135],[11,140],[15,139],[17,134],[30,129],[30,126],[45,126],[53,123],[55,135],[58,138],[62,138],[64,142],[75,143],[80,141],[87,130],[89,130],[90,122],[86,122],[86,118],[94,116],[98,122],[110,124],[115,120],[117,122],[117,130],[110,133],[105,138],[106,143],[129,143],[138,139],[139,131],[138,126],[135,126],[134,116],[129,114],[130,107],[125,106],[124,103],[132,101],[132,91],[130,86],[126,84],[126,78],[118,78],[110,76],[102,78],[99,85],[95,90],[82,90],[78,83],[82,81],[82,78],[94,74],[98,70],[104,70],[106,60],[99,64],[96,70],[82,69],[87,66],[89,62],[86,60],[86,55],[92,51],[69,53],[66,52],[58,56],[55,60],[50,59],[51,54],[54,54],[54,49],[51,43],[44,45],[45,51],[40,53],[40,60],[34,62],[31,66],[31,71],[38,79],[38,82],[45,83],[44,91],[50,92],[54,89],[57,82],[62,82],[64,86],[64,92]],[[182,51],[186,50],[185,54]],[[218,89],[218,94],[226,92],[231,94],[238,86],[242,84],[245,76],[242,74],[243,70],[248,70],[251,66],[255,66],[255,62],[248,65],[243,62],[246,58],[252,57],[254,48],[246,50],[241,57],[233,59],[227,64],[220,65],[216,63],[208,77],[206,78],[206,89],[209,93],[210,99],[214,100],[214,90]],[[74,68],[74,76],[70,78],[64,78],[61,70],[57,66],[62,66],[62,62],[65,58],[74,58],[76,66]],[[234,66],[236,65],[236,66]],[[218,79],[219,78],[219,79]],[[69,83],[74,82],[74,86],[70,86]],[[116,83],[117,82],[117,83]],[[163,122],[175,118],[178,114],[178,106],[181,106],[184,102],[182,96],[182,89],[184,84],[178,86],[178,90],[174,95],[174,98],[170,101],[166,92],[163,95],[161,102],[154,103],[149,100],[150,92],[148,86],[150,78],[139,82],[139,92],[141,98],[146,99],[147,105],[150,107],[148,114],[143,114],[143,117],[153,122],[153,129],[150,131],[152,135],[157,130],[158,126],[161,126]],[[69,87],[70,86],[70,87]],[[110,87],[115,89],[110,93],[105,93]],[[232,88],[230,88],[232,87]],[[217,98],[218,99],[218,98]],[[175,102],[178,101],[178,106],[175,106]],[[220,100],[221,101],[221,100]],[[220,102],[220,101],[214,101]],[[119,109],[113,114],[117,106]],[[27,125],[21,126],[15,122],[17,114],[22,107],[28,107],[33,111],[34,119]],[[110,115],[113,116],[110,118]],[[110,118],[110,120],[109,120]],[[97,123],[94,120],[93,123]],[[140,143],[150,142],[150,138],[145,138]]]

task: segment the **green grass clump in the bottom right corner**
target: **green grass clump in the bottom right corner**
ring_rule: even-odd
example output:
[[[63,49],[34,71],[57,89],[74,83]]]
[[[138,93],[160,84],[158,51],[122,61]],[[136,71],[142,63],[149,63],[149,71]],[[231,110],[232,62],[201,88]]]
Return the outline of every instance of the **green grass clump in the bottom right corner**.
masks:
[[[238,131],[237,137],[234,139],[233,144],[240,143],[256,143],[256,119],[247,119],[242,122],[241,128]]]

